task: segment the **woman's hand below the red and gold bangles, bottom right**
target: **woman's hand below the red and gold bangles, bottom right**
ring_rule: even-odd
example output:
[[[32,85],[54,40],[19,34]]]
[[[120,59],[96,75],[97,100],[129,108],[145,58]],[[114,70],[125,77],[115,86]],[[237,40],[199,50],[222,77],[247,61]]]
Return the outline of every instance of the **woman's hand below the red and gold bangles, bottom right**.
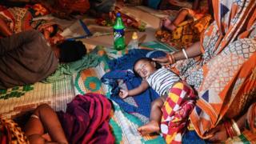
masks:
[[[229,137],[228,134],[226,134],[226,128],[223,123],[210,130],[208,134],[213,135],[212,137],[208,138],[210,142],[225,142]]]

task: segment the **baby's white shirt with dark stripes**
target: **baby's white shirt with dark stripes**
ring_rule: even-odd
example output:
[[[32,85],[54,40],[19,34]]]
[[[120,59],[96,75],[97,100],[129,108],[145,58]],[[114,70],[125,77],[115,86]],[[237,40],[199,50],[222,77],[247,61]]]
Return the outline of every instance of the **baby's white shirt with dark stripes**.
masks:
[[[146,81],[160,96],[168,93],[168,90],[174,85],[174,82],[178,82],[181,79],[173,71],[160,68],[153,74],[150,74]]]

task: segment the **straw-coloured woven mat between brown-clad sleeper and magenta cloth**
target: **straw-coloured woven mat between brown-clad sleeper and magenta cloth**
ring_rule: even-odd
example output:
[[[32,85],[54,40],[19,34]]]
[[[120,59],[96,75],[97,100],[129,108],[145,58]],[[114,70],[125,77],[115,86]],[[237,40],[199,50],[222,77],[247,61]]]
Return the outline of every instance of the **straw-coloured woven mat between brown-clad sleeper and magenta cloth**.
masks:
[[[0,117],[15,118],[42,103],[49,104],[54,110],[66,110],[66,103],[73,98],[71,76],[54,83],[37,82],[34,85],[0,90]]]

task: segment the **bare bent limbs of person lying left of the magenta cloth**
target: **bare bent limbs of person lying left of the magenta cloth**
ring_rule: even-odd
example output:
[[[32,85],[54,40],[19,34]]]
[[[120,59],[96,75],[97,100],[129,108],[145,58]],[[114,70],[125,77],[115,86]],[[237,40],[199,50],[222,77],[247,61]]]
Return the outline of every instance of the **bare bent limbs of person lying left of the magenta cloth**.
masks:
[[[25,126],[25,134],[31,143],[49,141],[44,134],[45,131],[50,134],[53,142],[68,143],[58,116],[50,106],[46,104],[38,106],[34,115],[38,118],[31,117]]]

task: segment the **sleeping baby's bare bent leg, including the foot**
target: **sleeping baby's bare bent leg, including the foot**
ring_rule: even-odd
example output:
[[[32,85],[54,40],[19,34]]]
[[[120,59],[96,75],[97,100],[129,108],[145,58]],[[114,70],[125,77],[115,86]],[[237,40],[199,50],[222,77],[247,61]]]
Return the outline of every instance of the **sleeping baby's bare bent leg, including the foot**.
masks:
[[[138,127],[138,131],[142,134],[152,134],[160,132],[160,122],[162,117],[162,105],[165,102],[165,98],[160,97],[151,104],[150,110],[150,122],[144,126]]]

